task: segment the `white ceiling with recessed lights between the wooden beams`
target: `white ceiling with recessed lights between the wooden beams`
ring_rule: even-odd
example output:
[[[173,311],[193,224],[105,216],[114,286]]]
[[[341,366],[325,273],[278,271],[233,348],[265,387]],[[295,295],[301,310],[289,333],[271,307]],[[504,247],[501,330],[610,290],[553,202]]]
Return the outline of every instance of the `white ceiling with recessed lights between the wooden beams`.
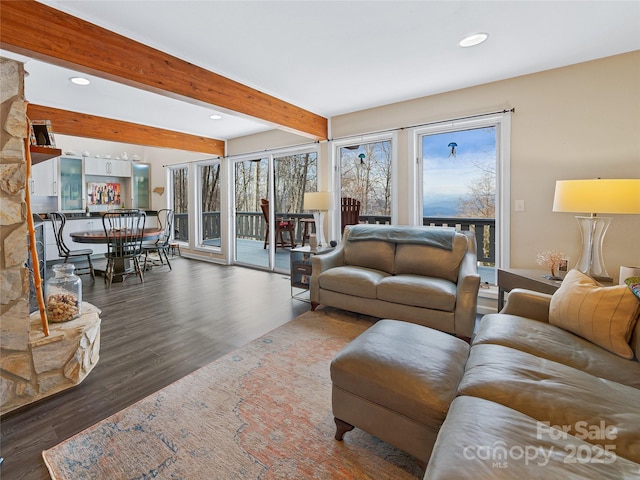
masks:
[[[640,49],[638,0],[42,3],[327,118]],[[476,32],[489,39],[458,46]],[[35,104],[220,139],[273,128],[95,77],[73,86],[75,72],[35,60],[26,69]]]

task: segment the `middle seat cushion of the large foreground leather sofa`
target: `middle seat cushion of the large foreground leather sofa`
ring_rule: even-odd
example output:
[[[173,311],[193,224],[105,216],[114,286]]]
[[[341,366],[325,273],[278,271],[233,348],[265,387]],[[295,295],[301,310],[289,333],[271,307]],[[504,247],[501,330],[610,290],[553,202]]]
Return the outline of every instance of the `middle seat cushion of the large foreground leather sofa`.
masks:
[[[484,398],[541,422],[567,426],[568,433],[615,428],[605,442],[615,453],[640,462],[640,390],[575,368],[503,347],[474,345],[459,395]],[[602,445],[597,435],[585,440]]]

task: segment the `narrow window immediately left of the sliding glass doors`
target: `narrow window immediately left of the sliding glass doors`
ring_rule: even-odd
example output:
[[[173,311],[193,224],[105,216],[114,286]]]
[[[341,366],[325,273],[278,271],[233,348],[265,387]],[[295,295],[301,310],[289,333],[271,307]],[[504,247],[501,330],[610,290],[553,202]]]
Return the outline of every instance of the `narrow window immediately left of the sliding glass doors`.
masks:
[[[201,247],[222,246],[221,228],[221,168],[220,162],[198,165],[198,194],[200,203],[200,223],[198,225]]]

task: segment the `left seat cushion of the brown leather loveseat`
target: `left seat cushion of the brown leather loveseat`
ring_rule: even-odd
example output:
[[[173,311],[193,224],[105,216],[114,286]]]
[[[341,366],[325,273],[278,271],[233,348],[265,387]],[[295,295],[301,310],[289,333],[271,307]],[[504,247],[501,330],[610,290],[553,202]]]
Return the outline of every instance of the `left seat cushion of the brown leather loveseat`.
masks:
[[[377,298],[378,283],[389,274],[363,267],[336,267],[318,276],[318,285],[324,290],[363,298]]]

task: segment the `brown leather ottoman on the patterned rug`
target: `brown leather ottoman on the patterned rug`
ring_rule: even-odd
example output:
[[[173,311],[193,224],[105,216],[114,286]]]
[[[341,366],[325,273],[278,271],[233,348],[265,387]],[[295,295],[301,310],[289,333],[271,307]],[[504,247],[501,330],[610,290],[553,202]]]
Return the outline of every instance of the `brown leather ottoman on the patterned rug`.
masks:
[[[452,335],[380,320],[331,362],[336,440],[358,427],[426,465],[468,356]]]

